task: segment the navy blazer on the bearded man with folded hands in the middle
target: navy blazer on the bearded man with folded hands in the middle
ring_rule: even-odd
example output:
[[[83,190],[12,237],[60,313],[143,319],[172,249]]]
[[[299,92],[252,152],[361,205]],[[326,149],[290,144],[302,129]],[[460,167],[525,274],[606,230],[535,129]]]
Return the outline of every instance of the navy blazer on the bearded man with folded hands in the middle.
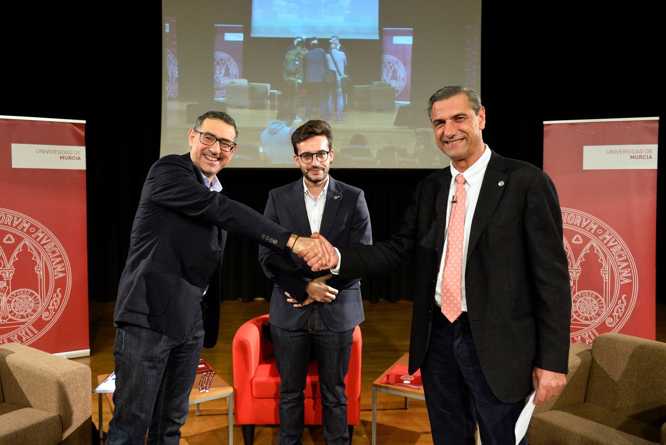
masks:
[[[293,233],[304,236],[312,234],[303,197],[302,177],[294,183],[270,191],[264,216]],[[372,244],[370,214],[361,189],[328,177],[320,233],[336,247]],[[308,282],[329,271],[312,272],[298,255],[292,254],[292,260],[285,260],[284,255],[276,254],[264,246],[259,247],[259,261],[266,276],[275,282],[268,316],[271,324],[286,330],[296,330],[306,323],[315,305],[319,306],[326,326],[334,332],[350,330],[364,320],[359,278],[343,280],[334,275],[327,281],[329,286],[338,290],[333,302],[314,302],[302,308],[294,308],[292,303],[286,301],[284,292],[302,301],[306,298]]]

